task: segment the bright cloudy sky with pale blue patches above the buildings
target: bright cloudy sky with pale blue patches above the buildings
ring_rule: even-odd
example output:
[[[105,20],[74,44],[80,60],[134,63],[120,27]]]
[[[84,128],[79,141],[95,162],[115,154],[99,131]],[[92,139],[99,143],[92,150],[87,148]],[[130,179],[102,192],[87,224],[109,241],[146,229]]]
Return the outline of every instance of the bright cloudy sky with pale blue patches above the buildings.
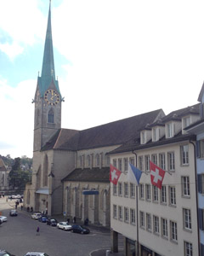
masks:
[[[0,154],[32,157],[48,0],[0,0]],[[52,0],[62,128],[83,130],[197,103],[204,2]]]

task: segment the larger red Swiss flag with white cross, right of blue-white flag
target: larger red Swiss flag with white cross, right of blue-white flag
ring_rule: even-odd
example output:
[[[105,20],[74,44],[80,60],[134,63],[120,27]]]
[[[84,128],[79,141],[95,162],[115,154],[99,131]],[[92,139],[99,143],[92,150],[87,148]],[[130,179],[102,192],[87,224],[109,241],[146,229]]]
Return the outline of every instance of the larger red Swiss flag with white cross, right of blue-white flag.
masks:
[[[161,189],[164,175],[165,171],[150,161],[150,177],[152,185],[155,185],[157,188]]]

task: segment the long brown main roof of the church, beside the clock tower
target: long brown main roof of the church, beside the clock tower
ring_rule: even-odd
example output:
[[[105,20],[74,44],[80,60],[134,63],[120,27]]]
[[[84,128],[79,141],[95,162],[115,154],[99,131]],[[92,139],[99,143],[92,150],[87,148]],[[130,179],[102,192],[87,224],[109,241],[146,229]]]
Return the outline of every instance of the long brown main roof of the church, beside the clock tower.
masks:
[[[146,124],[151,124],[158,117],[163,115],[163,111],[158,109],[83,131],[61,129],[51,138],[42,150],[52,148],[80,150],[119,145],[135,137],[139,137],[139,131]]]

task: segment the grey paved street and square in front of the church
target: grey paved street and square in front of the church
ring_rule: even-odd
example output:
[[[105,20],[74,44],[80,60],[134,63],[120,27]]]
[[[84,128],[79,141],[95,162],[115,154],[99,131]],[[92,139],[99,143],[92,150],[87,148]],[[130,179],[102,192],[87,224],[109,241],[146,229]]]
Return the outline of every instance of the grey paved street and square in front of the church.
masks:
[[[0,198],[0,211],[8,221],[0,225],[0,248],[15,256],[27,252],[43,252],[49,256],[88,256],[98,249],[110,249],[110,233],[91,229],[90,234],[81,235],[42,224],[31,219],[31,215],[18,209],[18,217],[10,217],[13,208],[10,201]],[[36,236],[37,226],[40,236]]]

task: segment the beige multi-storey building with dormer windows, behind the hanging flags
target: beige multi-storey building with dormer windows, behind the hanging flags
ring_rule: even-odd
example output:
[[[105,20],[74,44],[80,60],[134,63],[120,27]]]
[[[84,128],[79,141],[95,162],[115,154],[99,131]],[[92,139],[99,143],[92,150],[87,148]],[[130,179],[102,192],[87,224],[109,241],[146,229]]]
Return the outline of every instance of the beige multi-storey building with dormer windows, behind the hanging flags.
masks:
[[[110,154],[122,171],[111,183],[111,243],[124,255],[198,255],[195,137],[184,128],[199,119],[199,105],[168,114],[144,127],[136,143]],[[161,189],[150,181],[150,160],[166,171]],[[127,164],[142,171],[139,186],[127,182]]]

